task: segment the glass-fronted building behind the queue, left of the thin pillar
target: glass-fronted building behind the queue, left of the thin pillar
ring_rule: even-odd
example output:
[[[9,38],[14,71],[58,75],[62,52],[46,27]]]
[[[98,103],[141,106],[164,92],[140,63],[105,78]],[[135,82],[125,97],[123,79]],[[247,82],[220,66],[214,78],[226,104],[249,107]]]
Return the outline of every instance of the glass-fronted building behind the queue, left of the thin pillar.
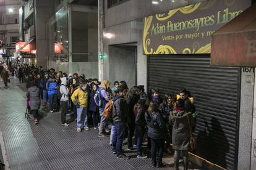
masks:
[[[20,10],[20,41],[30,51],[16,53],[44,68],[98,77],[97,1],[27,0]]]

